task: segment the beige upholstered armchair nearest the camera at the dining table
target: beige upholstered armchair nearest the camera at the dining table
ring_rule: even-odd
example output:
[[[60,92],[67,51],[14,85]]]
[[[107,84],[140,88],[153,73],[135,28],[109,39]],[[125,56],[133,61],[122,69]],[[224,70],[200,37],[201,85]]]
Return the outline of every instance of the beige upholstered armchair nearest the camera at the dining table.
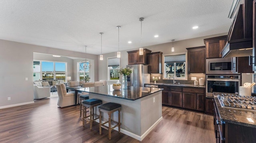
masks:
[[[56,84],[56,86],[57,86],[57,92],[59,96],[57,105],[60,106],[60,108],[74,105],[75,104],[74,92],[67,93],[66,86],[63,83]]]

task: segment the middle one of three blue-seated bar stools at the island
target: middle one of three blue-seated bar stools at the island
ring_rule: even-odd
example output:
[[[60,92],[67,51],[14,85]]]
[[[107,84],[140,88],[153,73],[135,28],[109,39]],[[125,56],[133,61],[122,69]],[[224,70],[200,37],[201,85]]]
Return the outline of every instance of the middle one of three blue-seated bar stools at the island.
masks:
[[[88,120],[90,121],[90,129],[92,129],[92,122],[95,121],[98,118],[94,119],[94,116],[97,116],[96,114],[94,114],[94,107],[101,105],[102,104],[102,100],[99,99],[88,99],[88,100],[84,100],[82,102],[84,108],[83,108],[83,126],[84,126],[84,120]],[[90,109],[90,115],[86,116],[86,108]],[[88,119],[88,117],[90,117],[90,119]]]

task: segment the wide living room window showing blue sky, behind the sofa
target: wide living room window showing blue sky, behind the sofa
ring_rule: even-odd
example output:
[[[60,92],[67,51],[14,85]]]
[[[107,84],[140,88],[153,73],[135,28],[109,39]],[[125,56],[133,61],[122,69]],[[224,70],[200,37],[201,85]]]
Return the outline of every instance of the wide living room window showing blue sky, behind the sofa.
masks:
[[[66,63],[53,61],[34,61],[33,80],[46,79],[57,79],[65,81]]]

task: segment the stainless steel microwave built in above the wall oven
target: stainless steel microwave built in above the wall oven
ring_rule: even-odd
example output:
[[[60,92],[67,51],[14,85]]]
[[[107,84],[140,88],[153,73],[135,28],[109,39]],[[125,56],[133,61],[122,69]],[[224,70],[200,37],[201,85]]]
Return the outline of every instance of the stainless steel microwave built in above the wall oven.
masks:
[[[206,59],[206,74],[233,74],[231,58]]]

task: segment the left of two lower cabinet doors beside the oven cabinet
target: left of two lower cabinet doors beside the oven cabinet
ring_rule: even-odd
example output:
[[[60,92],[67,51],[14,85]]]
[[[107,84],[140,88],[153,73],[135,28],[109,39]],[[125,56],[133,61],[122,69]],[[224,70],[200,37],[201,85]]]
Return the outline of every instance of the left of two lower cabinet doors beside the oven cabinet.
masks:
[[[196,110],[196,93],[182,93],[182,107]]]

